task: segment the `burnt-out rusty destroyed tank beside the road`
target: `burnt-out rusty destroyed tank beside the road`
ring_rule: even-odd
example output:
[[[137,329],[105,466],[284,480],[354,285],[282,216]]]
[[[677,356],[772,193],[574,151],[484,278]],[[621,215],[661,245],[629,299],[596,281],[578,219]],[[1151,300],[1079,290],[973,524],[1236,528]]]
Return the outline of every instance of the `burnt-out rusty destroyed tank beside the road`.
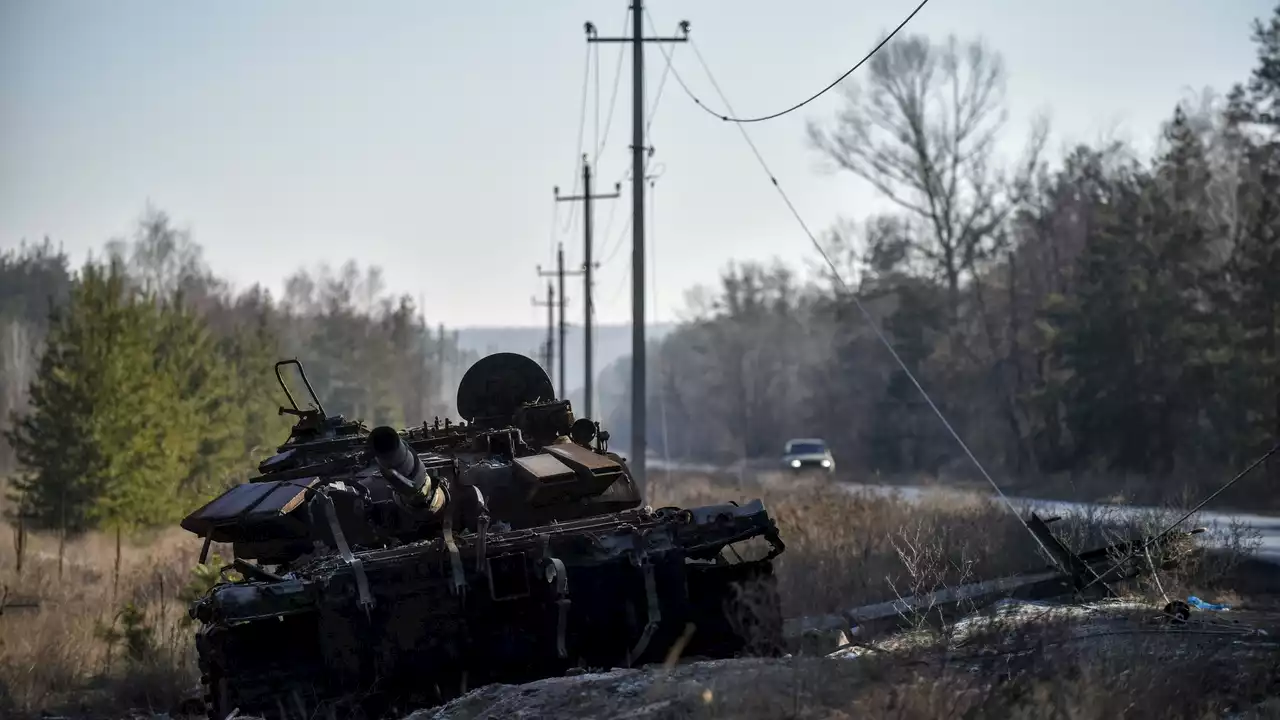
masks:
[[[489,683],[782,652],[763,503],[643,505],[531,359],[479,360],[462,421],[404,429],[328,415],[297,360],[275,375],[288,439],[182,521],[239,575],[189,609],[210,717],[383,717]]]

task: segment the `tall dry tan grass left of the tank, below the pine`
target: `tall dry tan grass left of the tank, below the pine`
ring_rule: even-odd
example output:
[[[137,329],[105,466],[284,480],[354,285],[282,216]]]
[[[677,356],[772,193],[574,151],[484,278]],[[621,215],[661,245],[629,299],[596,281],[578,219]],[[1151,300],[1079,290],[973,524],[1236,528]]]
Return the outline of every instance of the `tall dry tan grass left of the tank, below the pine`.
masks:
[[[0,527],[0,585],[10,602],[38,607],[0,614],[0,715],[119,717],[169,711],[189,694],[198,675],[179,594],[195,538],[175,529],[125,541],[116,583],[114,536],[69,541],[61,571],[56,538],[28,536],[19,573],[13,530]]]

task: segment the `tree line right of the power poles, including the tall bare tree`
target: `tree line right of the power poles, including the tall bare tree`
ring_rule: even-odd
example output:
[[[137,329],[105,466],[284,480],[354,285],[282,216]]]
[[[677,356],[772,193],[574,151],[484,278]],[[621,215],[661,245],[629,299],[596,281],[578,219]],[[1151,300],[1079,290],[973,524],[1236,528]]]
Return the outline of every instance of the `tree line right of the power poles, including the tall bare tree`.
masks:
[[[1170,108],[1151,156],[1124,142],[1051,156],[1043,120],[1006,156],[998,53],[888,44],[808,136],[893,210],[838,224],[831,265],[808,277],[735,264],[691,293],[691,319],[649,350],[650,445],[732,460],[818,436],[864,474],[960,471],[861,304],[1010,475],[1247,464],[1280,438],[1280,6],[1252,29],[1251,76]]]

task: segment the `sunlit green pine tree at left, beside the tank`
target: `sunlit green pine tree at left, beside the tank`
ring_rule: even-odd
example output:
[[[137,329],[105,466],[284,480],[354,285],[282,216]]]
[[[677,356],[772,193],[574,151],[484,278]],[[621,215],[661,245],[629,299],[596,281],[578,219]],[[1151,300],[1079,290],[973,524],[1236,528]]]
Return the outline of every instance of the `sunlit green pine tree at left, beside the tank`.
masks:
[[[243,462],[234,379],[180,297],[131,290],[119,260],[86,264],[9,433],[27,509],[70,532],[177,520]]]

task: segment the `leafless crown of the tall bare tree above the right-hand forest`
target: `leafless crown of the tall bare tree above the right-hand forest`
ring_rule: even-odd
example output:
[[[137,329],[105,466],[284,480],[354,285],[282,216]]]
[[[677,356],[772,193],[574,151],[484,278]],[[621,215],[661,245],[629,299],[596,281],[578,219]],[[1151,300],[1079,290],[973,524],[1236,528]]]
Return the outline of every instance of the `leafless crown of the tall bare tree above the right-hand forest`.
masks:
[[[877,53],[864,83],[845,87],[846,106],[829,128],[808,128],[836,169],[906,210],[913,254],[945,279],[952,307],[966,277],[997,250],[996,229],[1018,190],[996,161],[1004,96],[1004,61],[980,41],[911,36]],[[1038,127],[1030,158],[1043,137]]]

